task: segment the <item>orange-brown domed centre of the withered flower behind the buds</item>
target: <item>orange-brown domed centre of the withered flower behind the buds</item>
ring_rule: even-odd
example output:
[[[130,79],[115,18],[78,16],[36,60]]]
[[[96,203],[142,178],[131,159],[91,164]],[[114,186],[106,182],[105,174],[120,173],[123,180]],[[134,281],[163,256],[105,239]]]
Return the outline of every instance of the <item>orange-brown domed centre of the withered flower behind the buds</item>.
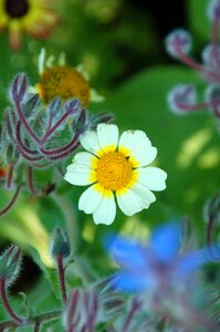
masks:
[[[44,104],[49,104],[54,97],[64,102],[78,98],[83,106],[87,106],[90,102],[90,86],[86,80],[74,68],[66,65],[45,70],[36,89]]]

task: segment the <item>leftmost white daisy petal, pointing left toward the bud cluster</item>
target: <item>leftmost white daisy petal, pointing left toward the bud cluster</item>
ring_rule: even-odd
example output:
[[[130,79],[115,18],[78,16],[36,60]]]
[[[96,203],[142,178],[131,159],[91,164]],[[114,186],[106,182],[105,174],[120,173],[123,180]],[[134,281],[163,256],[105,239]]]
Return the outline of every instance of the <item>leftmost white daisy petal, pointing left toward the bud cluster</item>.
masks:
[[[66,168],[64,179],[75,186],[87,186],[91,180],[92,170],[87,166],[71,164]]]

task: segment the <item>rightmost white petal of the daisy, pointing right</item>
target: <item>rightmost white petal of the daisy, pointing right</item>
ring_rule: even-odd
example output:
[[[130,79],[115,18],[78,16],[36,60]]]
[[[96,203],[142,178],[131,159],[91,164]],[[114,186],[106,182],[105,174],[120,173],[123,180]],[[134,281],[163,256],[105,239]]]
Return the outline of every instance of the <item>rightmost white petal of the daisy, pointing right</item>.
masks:
[[[166,188],[167,173],[158,167],[138,168],[138,183],[147,186],[150,190],[160,191]]]

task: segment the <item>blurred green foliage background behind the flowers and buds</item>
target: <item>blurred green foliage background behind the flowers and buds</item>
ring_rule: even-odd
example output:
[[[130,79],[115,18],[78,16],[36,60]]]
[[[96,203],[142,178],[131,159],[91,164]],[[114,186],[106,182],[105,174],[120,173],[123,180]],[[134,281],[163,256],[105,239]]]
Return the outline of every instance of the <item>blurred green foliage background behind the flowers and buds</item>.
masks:
[[[69,287],[94,281],[107,272],[102,240],[112,230],[144,238],[156,225],[185,216],[190,218],[198,241],[203,245],[202,208],[219,189],[220,181],[219,124],[206,111],[188,116],[169,112],[166,96],[174,85],[193,82],[202,98],[206,84],[164,50],[166,34],[185,27],[192,33],[192,53],[200,61],[210,25],[206,20],[207,1],[199,0],[199,4],[198,9],[197,0],[57,1],[61,20],[49,39],[39,41],[25,35],[22,49],[14,53],[9,48],[7,32],[0,35],[1,115],[9,104],[9,85],[18,72],[27,72],[30,84],[38,83],[41,48],[54,56],[64,52],[69,65],[84,64],[91,86],[105,96],[102,104],[91,104],[88,110],[113,112],[121,132],[145,131],[158,148],[156,165],[168,174],[167,189],[156,194],[157,200],[148,210],[130,218],[118,210],[111,227],[97,227],[91,216],[78,212],[77,200],[84,188],[74,188],[62,178],[51,196],[21,195],[0,220],[0,246],[4,248],[10,242],[22,246],[27,255],[23,272],[12,292],[28,291],[32,302],[43,289],[42,298],[34,303],[36,312],[50,309],[51,301],[53,308],[59,303],[48,249],[50,234],[57,225],[69,230],[76,257],[75,264],[70,267]],[[0,190],[3,207],[12,193],[6,193],[3,187]],[[46,279],[42,278],[42,271]],[[48,282],[52,288],[45,288]],[[3,317],[3,312],[0,314]]]

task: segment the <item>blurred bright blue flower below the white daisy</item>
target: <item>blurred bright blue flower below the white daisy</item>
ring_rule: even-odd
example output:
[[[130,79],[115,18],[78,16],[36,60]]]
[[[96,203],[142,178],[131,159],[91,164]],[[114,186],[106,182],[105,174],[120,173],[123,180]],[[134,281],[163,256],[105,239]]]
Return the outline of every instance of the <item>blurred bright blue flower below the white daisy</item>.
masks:
[[[154,230],[148,243],[142,245],[123,237],[107,241],[109,255],[121,266],[115,274],[116,289],[163,293],[185,289],[202,264],[211,261],[208,249],[180,253],[181,228],[167,224]]]

